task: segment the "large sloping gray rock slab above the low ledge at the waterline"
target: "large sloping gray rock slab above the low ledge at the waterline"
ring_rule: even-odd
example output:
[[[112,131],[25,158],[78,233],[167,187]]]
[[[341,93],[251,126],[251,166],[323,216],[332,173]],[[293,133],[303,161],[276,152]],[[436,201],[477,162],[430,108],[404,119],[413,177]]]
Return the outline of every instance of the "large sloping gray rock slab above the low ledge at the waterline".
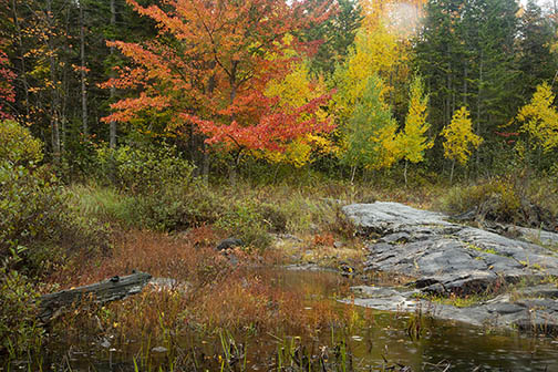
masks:
[[[399,203],[343,208],[368,245],[368,270],[416,278],[417,288],[467,294],[523,278],[558,276],[558,257],[547,247],[450,223],[441,213]]]

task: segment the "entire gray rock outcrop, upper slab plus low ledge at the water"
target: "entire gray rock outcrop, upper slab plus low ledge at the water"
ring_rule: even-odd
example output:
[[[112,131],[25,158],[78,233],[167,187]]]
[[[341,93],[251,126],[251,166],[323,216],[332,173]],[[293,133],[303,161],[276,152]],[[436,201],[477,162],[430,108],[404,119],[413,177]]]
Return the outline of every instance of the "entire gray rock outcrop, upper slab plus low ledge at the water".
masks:
[[[558,288],[540,285],[558,277],[558,234],[513,227],[519,234],[509,238],[397,203],[354,204],[343,211],[370,239],[365,270],[414,278],[402,289],[355,287],[355,304],[558,333]],[[493,298],[458,308],[426,294]]]

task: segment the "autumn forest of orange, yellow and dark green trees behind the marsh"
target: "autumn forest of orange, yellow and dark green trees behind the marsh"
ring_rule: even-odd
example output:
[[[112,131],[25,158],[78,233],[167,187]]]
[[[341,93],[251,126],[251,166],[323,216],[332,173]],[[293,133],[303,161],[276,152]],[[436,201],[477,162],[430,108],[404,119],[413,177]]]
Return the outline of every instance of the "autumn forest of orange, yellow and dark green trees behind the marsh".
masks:
[[[65,179],[107,149],[161,144],[206,177],[294,167],[353,179],[409,163],[556,173],[552,7],[158,6],[3,1],[2,116],[40,138]],[[452,130],[458,120],[471,128]]]

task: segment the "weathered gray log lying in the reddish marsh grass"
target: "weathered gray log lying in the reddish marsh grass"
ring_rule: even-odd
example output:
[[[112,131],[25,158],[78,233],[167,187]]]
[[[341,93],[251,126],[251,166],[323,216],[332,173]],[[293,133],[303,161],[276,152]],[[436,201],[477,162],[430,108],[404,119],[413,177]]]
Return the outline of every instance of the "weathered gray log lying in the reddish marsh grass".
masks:
[[[125,277],[113,277],[93,285],[66,289],[41,296],[39,318],[48,322],[63,309],[90,299],[94,303],[106,303],[138,293],[152,278],[146,272],[134,272]]]

